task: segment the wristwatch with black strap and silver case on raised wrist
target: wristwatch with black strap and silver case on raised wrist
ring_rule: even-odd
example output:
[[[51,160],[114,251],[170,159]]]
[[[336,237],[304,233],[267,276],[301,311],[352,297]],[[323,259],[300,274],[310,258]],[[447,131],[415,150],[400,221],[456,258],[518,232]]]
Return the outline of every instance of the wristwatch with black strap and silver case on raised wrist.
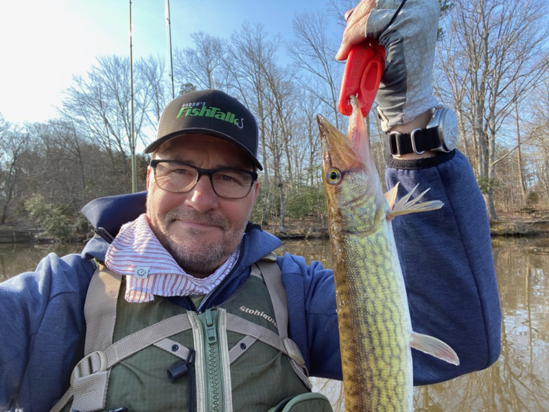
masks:
[[[438,106],[426,128],[388,135],[390,152],[397,157],[406,153],[421,155],[425,150],[447,153],[458,146],[458,120],[452,109]]]

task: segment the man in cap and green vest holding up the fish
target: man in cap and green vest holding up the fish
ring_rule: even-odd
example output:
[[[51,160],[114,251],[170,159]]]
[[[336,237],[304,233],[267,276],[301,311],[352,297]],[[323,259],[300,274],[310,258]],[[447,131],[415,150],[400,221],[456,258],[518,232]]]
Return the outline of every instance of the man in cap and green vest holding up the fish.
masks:
[[[409,0],[401,13],[434,14],[436,32],[438,6],[430,14],[425,3],[436,5]],[[384,5],[392,11],[375,23],[398,4]],[[360,3],[348,27],[376,16],[373,6]],[[425,128],[434,104],[429,65],[412,74],[392,60],[409,27],[399,22],[377,32],[385,76],[397,79],[378,98],[387,127],[406,133]],[[414,33],[404,38],[413,43]],[[432,56],[434,43],[421,49]],[[427,91],[414,76],[429,78]],[[341,379],[331,271],[286,254],[276,258],[281,275],[272,275],[269,253],[280,242],[248,222],[262,169],[257,146],[253,115],[222,91],[167,105],[145,149],[146,210],[145,194],[93,201],[83,211],[97,236],[82,255],[50,254],[34,273],[0,284],[2,411],[49,411],[62,397],[55,410],[268,411],[307,393],[306,371]],[[445,203],[394,223],[414,330],[443,339],[461,361],[413,351],[414,382],[488,367],[500,352],[501,314],[486,211],[467,159],[456,150],[412,153],[390,159],[386,176],[390,186],[431,187]]]

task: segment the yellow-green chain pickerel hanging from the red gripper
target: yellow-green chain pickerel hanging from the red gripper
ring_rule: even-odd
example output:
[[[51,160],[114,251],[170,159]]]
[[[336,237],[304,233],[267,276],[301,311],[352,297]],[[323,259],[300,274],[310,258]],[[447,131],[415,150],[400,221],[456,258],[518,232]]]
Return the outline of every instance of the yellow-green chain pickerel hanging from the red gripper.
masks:
[[[458,365],[451,347],[412,331],[408,299],[390,220],[439,209],[410,192],[386,196],[370,152],[358,101],[349,135],[318,115],[331,253],[336,282],[345,411],[412,411],[410,347]]]

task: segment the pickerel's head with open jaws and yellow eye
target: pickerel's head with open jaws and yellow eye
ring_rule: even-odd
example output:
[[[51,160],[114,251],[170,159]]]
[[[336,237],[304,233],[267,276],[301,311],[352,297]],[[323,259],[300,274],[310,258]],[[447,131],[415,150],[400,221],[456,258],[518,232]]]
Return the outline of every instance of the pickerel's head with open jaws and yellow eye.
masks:
[[[353,112],[347,136],[317,115],[322,147],[323,183],[331,229],[370,231],[385,220],[388,205],[371,157],[364,116],[351,95]]]

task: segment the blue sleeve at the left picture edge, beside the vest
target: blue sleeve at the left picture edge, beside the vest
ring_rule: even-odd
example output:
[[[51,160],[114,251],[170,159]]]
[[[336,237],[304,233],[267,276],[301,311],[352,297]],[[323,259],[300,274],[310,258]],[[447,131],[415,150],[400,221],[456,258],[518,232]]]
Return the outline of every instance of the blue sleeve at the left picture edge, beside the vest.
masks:
[[[80,255],[50,253],[0,284],[0,411],[49,411],[65,391],[93,270]]]

